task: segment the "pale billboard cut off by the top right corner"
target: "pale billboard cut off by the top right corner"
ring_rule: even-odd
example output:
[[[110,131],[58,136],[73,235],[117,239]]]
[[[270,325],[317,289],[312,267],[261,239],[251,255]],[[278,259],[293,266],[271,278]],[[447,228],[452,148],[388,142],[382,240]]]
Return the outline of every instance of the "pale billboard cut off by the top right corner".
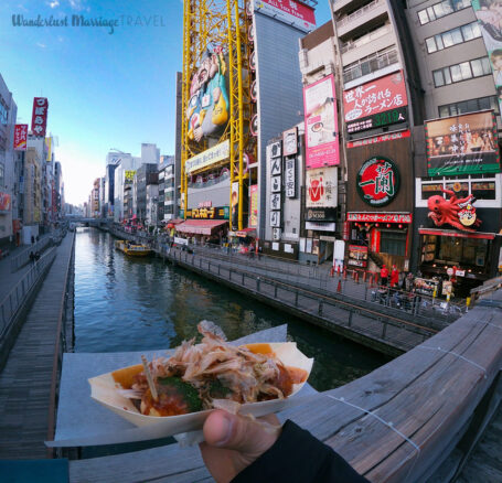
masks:
[[[502,111],[502,3],[493,0],[472,0],[471,4],[483,35]]]

